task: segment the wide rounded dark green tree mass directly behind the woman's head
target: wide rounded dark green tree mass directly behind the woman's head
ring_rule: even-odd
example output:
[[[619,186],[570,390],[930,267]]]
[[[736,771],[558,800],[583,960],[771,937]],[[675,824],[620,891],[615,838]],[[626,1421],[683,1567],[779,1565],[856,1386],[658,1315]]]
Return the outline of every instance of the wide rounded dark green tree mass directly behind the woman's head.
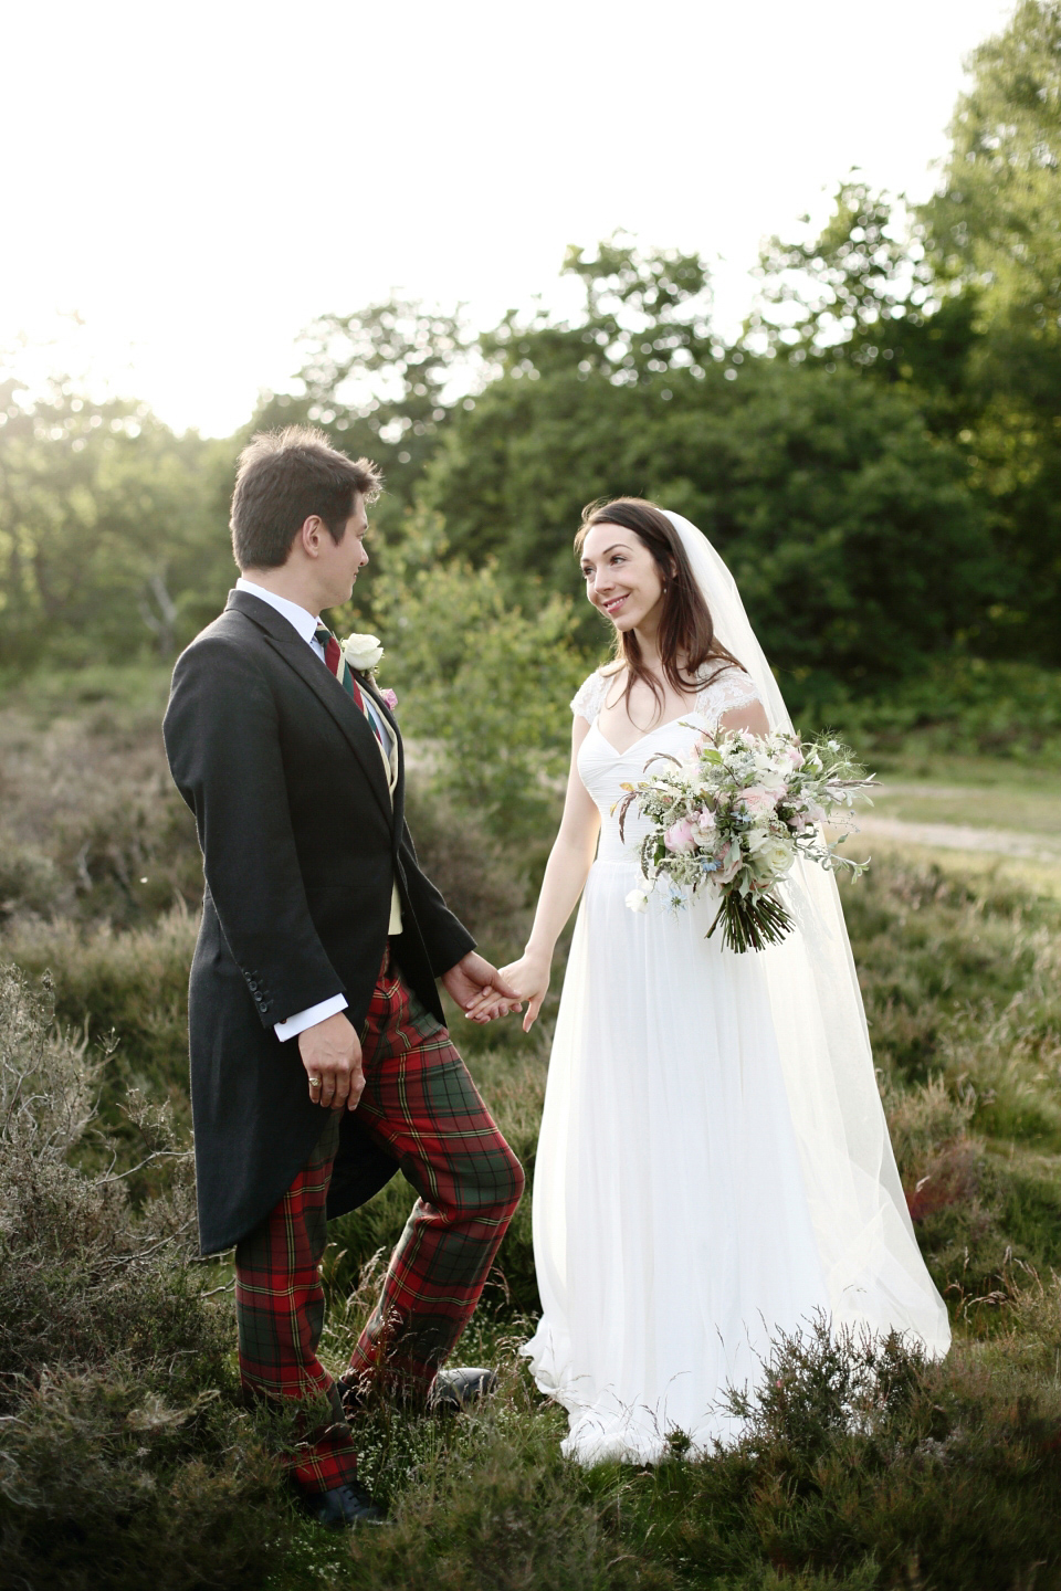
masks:
[[[554,364],[507,372],[453,422],[425,495],[452,546],[496,558],[511,600],[573,593],[587,500],[635,493],[687,514],[736,576],[771,662],[802,690],[915,673],[997,595],[958,449],[911,398],[857,372],[748,360],[667,387]],[[539,598],[544,601],[544,595]],[[595,616],[581,630],[601,644]]]

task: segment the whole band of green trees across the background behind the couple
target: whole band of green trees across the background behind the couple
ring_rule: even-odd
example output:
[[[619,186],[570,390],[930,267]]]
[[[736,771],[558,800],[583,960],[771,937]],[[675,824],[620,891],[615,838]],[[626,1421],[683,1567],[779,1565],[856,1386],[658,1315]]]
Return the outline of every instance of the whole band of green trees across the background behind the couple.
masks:
[[[231,581],[239,444],[310,420],[382,465],[383,539],[441,514],[449,555],[525,616],[577,592],[582,506],[636,493],[717,541],[795,676],[1061,663],[1061,3],[1021,0],[970,72],[935,197],[849,173],[821,235],[768,243],[733,347],[698,255],[616,234],[568,251],[566,320],[511,310],[472,339],[460,309],[402,299],[321,317],[293,391],[231,442],[5,388],[0,662],[170,655]]]

